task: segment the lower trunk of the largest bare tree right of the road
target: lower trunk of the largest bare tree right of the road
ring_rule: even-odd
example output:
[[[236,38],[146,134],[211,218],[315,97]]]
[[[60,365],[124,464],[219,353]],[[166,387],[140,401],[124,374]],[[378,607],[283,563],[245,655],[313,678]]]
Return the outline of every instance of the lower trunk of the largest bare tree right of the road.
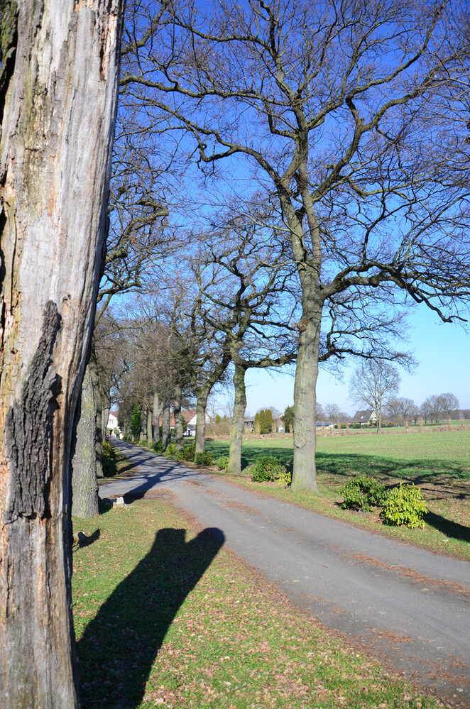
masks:
[[[294,385],[293,490],[318,490],[315,449],[317,445],[317,377],[322,302],[304,283],[302,319]]]

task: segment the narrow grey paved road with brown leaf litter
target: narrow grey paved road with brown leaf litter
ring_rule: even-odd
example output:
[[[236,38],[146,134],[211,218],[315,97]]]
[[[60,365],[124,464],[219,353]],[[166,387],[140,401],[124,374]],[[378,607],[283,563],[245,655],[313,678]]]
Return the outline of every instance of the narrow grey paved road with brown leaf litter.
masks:
[[[470,564],[393,542],[114,441],[138,474],[99,494],[168,490],[297,607],[438,696],[470,707]]]

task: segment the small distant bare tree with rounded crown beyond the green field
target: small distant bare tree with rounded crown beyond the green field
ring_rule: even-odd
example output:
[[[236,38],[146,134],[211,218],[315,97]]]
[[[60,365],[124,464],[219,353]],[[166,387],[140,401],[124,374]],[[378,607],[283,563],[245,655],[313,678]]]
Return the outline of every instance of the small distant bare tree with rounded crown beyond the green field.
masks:
[[[378,434],[382,432],[382,410],[386,397],[398,392],[399,385],[398,371],[387,362],[365,362],[351,377],[349,396],[373,409]]]

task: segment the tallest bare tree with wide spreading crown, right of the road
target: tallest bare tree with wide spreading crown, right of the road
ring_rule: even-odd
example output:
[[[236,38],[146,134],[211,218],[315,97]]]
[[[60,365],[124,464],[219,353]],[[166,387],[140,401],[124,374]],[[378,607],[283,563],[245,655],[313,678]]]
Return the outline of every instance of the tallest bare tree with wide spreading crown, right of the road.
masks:
[[[293,488],[315,490],[325,306],[398,288],[450,321],[469,302],[468,8],[175,0],[160,9],[157,29],[141,10],[121,84],[155,120],[166,116],[169,136],[185,135],[205,185],[215,177],[219,188],[230,160],[232,186],[232,165],[244,165],[243,180],[253,175],[278,200],[302,291]]]

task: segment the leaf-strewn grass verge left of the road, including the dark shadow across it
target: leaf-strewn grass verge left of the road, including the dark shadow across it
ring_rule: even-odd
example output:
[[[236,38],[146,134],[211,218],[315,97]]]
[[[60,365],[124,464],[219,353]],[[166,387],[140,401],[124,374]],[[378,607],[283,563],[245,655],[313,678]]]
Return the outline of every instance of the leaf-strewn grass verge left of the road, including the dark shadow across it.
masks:
[[[83,709],[434,709],[163,500],[75,520]]]

